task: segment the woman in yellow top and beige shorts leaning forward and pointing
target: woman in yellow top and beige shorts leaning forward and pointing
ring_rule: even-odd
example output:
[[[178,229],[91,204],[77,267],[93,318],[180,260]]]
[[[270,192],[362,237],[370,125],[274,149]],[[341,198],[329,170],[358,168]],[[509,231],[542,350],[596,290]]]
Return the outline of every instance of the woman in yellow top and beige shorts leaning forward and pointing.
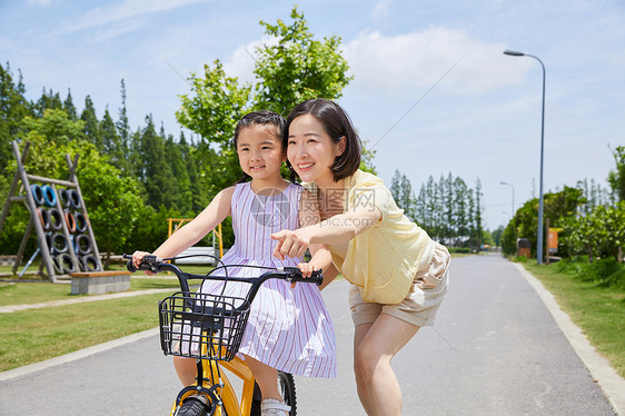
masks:
[[[390,360],[421,326],[434,324],[447,293],[449,252],[404,216],[381,179],[358,169],[360,140],[343,108],[305,101],[291,110],[287,130],[288,161],[318,199],[323,221],[272,235],[275,256],[328,245],[334,265],[353,284],[360,403],[369,415],[400,415]]]

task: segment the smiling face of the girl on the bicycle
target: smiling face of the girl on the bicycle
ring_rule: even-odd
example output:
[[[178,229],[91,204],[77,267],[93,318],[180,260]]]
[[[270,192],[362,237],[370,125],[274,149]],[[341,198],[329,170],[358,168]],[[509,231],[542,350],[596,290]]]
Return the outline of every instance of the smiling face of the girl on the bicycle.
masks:
[[[286,160],[274,126],[249,126],[239,131],[237,155],[244,172],[252,179],[276,179]]]

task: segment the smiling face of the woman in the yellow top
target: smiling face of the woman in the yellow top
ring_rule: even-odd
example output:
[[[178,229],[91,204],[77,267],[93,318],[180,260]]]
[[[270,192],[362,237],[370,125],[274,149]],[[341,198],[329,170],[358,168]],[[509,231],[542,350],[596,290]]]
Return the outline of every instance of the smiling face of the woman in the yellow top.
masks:
[[[287,157],[302,181],[334,184],[330,167],[344,150],[345,138],[335,143],[315,116],[304,115],[291,121]]]

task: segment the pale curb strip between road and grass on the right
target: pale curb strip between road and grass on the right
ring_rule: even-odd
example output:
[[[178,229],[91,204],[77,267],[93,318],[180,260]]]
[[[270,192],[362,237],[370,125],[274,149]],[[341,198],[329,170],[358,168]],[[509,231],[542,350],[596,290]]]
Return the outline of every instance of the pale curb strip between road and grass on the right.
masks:
[[[513,265],[518,269],[518,271],[525,277],[527,283],[534,288],[538,294],[543,304],[549,310],[549,314],[554,317],[554,320],[564,333],[568,343],[582,360],[591,376],[599,385],[601,389],[604,392],[606,398],[612,405],[614,412],[619,415],[625,415],[625,379],[616,373],[616,370],[609,365],[608,360],[601,356],[595,347],[588,341],[588,338],[584,335],[582,329],[571,320],[571,317],[566,315],[557,304],[554,295],[548,291],[545,286],[534,277],[529,271],[527,271],[522,265],[513,263]]]

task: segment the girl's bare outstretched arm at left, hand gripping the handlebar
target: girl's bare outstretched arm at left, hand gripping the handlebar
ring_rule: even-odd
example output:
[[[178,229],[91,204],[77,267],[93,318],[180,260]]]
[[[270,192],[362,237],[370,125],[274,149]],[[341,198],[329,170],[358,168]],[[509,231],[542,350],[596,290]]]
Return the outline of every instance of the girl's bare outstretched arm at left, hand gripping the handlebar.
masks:
[[[217,227],[231,212],[230,205],[235,187],[226,188],[212,199],[192,221],[180,227],[153,252],[155,256],[173,257],[201,240],[208,232]],[[135,251],[132,263],[139,266],[147,251]]]

